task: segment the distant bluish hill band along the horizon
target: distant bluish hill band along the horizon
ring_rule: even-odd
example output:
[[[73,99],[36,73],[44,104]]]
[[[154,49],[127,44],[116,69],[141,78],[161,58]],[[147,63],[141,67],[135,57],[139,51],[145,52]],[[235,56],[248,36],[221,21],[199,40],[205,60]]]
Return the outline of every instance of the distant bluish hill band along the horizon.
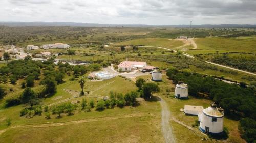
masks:
[[[72,26],[72,27],[174,27],[189,28],[190,25],[145,25],[145,24],[97,24],[97,23],[76,23],[76,22],[0,22],[2,26]],[[219,24],[219,25],[192,25],[193,28],[256,28],[256,25],[249,24]]]

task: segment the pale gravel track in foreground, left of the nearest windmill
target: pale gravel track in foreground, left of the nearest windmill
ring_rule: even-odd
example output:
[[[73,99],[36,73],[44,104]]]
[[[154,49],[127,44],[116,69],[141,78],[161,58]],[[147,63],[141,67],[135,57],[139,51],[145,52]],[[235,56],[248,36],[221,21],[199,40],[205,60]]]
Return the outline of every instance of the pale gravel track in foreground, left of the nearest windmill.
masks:
[[[160,98],[160,97],[158,97]],[[170,142],[176,142],[174,133],[173,133],[173,129],[169,124],[170,121],[170,111],[168,109],[168,106],[166,104],[166,102],[160,98],[160,105],[161,105],[161,116],[162,116],[162,121],[161,121],[161,128],[162,128],[162,133],[164,136],[164,140],[166,143],[170,143]]]

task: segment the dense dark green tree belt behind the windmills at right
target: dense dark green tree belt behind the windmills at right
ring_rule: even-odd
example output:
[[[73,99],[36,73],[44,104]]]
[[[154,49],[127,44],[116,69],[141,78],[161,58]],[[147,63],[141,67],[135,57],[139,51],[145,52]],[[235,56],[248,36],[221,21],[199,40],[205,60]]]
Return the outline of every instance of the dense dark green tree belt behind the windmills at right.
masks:
[[[175,83],[183,80],[188,84],[189,95],[204,95],[222,107],[227,117],[240,119],[239,129],[246,141],[256,140],[256,83],[252,83],[248,87],[244,84],[239,86],[225,83],[211,76],[203,77],[200,74],[180,73],[177,69],[169,69],[167,76]]]

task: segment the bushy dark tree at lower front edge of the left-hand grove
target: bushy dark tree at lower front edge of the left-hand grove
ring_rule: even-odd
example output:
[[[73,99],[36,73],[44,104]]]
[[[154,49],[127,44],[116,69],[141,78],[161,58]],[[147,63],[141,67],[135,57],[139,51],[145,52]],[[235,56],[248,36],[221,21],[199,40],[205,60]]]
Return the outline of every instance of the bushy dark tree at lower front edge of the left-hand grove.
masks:
[[[23,103],[30,103],[31,108],[33,105],[36,105],[38,103],[38,99],[36,97],[35,92],[30,88],[26,88],[22,94],[22,102]]]

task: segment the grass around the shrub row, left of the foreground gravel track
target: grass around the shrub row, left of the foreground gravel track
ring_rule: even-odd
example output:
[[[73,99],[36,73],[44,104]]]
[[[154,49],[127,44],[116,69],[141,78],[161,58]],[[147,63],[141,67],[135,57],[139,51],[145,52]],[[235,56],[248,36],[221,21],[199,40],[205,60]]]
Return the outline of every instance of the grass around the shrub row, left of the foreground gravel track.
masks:
[[[78,81],[67,81],[67,79],[65,83],[58,85],[57,93],[53,97],[41,103],[43,106],[68,98],[71,98],[69,101],[82,98],[86,98],[87,101],[94,99],[95,102],[100,100],[92,97],[73,98],[63,88],[80,91],[80,86]],[[93,92],[91,96],[108,95],[110,91],[125,94],[136,90],[134,82],[121,77],[101,82],[86,82],[85,87],[85,91]],[[62,98],[52,100],[56,96],[62,96]],[[25,105],[18,105],[0,110],[0,130],[7,129],[1,134],[0,142],[9,140],[13,142],[83,142],[83,140],[120,142],[123,139],[130,140],[129,142],[164,142],[160,128],[161,109],[158,102],[142,101],[138,107],[123,109],[116,107],[102,112],[94,110],[83,112],[78,109],[72,116],[62,115],[62,118],[56,118],[56,115],[51,115],[51,119],[45,119],[44,114],[33,118],[20,117],[19,111],[24,107]],[[7,118],[12,120],[9,127],[5,124]],[[73,121],[76,123],[68,123]],[[61,126],[55,125],[62,122]],[[35,127],[40,125],[42,126]],[[92,135],[94,137],[90,138]]]

